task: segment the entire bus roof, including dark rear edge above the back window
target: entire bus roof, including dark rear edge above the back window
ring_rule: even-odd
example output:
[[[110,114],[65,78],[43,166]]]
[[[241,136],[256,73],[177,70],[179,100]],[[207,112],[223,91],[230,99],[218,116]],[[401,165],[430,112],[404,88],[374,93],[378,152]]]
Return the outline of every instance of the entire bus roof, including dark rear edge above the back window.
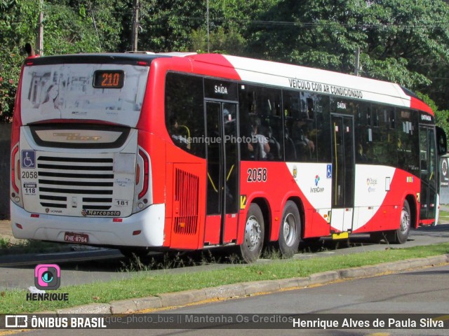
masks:
[[[430,107],[413,92],[401,85],[372,78],[352,76],[307,66],[283,64],[220,54],[196,54],[195,52],[126,52],[55,55],[28,58],[26,65],[43,64],[139,64],[149,66],[161,57],[185,57],[195,64],[225,66],[236,72],[236,77],[253,83],[280,86],[292,90],[302,89],[317,93],[336,94],[342,98],[358,98],[370,102],[380,102],[411,109],[420,109],[434,114]]]

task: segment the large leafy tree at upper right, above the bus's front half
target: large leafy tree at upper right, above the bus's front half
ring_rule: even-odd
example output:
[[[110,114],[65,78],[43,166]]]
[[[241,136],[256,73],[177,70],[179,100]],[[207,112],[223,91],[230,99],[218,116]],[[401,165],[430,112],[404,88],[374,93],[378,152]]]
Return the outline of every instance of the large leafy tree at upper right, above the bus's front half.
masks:
[[[260,16],[248,50],[265,58],[421,90],[442,102],[429,74],[449,64],[449,6],[441,0],[280,0]],[[444,108],[449,107],[445,103]]]

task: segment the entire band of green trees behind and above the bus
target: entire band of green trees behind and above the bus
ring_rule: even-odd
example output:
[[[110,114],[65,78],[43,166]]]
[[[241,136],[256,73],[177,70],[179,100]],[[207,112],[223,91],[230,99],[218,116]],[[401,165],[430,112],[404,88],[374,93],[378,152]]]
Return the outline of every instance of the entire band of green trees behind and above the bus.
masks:
[[[133,0],[44,0],[43,55],[130,50]],[[140,50],[222,52],[389,80],[421,94],[449,134],[443,0],[140,0]],[[0,0],[0,121],[11,122],[39,0]],[[209,30],[209,34],[208,34]]]

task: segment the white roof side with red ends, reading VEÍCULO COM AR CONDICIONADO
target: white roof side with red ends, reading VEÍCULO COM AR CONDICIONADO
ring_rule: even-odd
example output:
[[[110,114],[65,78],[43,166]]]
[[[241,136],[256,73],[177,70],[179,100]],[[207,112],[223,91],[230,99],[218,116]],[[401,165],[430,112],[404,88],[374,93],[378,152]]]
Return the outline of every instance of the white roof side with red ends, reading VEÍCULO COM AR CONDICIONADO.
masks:
[[[241,80],[286,88],[303,89],[317,93],[331,93],[346,98],[356,97],[370,102],[380,102],[434,114],[416,94],[396,83],[353,76],[323,69],[293,64],[250,59],[231,55],[192,55],[194,62],[229,66]]]

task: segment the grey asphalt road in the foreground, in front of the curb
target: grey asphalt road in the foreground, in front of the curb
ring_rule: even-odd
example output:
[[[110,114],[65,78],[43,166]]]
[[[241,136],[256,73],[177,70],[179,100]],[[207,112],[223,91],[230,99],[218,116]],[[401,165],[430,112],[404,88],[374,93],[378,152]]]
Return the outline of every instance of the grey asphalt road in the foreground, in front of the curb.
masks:
[[[320,315],[321,318],[338,318],[347,316],[368,320],[368,314],[382,316],[397,321],[408,320],[410,314],[438,314],[448,324],[449,311],[449,265],[443,267],[427,267],[413,272],[403,272],[387,276],[366,279],[355,279],[325,286],[288,290],[269,295],[258,295],[235,300],[227,300],[209,304],[171,309],[158,314],[331,314]],[[340,314],[340,315],[337,315]],[[355,315],[354,315],[355,314]],[[397,315],[403,314],[403,315]],[[154,315],[153,315],[154,316]],[[159,315],[161,316],[161,315]],[[163,316],[163,315],[162,315]],[[373,315],[371,315],[373,316]],[[160,317],[159,317],[160,318]],[[162,317],[163,318],[163,317]],[[167,317],[168,318],[168,317]],[[419,319],[417,321],[420,321]],[[261,323],[262,324],[262,323]],[[154,323],[148,323],[154,325]],[[178,324],[175,324],[178,325]],[[262,324],[262,325],[269,325]],[[222,323],[220,329],[138,329],[132,330],[133,336],[140,335],[371,335],[371,336],[418,336],[448,335],[448,329],[441,328],[397,328],[397,329],[344,329],[332,330],[290,328],[292,323],[281,323],[283,329],[236,329],[236,323]],[[257,327],[262,328],[262,327]],[[129,330],[131,331],[131,330]],[[64,335],[107,335],[121,336],[128,330],[64,330]],[[32,330],[22,332],[29,336],[56,336],[61,330]],[[0,334],[1,335],[1,334]]]

